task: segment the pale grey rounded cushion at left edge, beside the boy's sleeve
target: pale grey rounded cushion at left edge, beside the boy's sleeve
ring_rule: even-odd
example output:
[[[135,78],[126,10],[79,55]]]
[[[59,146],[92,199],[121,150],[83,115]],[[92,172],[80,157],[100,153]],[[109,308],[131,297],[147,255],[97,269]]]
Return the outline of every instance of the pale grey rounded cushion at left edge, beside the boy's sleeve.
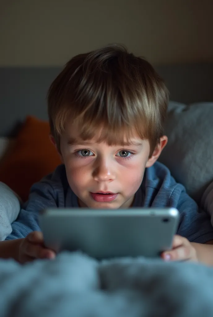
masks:
[[[18,197],[6,184],[0,182],[0,241],[12,232],[11,223],[16,220],[19,211]]]

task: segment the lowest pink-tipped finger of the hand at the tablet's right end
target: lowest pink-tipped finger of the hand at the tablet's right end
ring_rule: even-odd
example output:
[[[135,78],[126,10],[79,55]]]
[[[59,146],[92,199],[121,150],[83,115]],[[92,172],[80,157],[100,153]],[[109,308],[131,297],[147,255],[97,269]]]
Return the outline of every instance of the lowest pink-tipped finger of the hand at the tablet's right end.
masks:
[[[166,261],[187,261],[190,258],[192,258],[192,251],[193,248],[189,246],[180,246],[176,249],[173,249],[171,251],[167,251],[163,253],[163,258]]]

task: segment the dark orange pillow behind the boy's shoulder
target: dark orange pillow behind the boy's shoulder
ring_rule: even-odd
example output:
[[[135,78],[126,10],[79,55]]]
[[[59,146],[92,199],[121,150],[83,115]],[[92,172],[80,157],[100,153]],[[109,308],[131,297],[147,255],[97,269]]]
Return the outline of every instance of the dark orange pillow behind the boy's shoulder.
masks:
[[[48,122],[27,117],[11,150],[0,164],[0,181],[14,190],[23,201],[32,184],[61,164],[49,140]]]

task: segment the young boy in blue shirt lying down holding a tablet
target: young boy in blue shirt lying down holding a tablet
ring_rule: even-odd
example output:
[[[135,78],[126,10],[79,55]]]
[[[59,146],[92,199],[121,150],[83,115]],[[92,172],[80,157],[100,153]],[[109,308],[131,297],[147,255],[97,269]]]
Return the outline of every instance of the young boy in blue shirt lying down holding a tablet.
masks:
[[[38,212],[47,207],[176,207],[180,224],[165,260],[213,265],[213,228],[204,212],[156,162],[168,92],[144,59],[110,46],[71,59],[48,92],[51,140],[63,162],[33,185],[0,255],[24,263],[53,258]]]

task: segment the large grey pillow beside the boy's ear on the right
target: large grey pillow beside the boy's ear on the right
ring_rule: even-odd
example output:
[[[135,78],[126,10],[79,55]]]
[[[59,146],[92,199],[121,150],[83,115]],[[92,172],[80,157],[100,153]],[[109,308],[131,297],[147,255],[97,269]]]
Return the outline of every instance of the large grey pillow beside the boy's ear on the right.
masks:
[[[213,103],[170,102],[165,134],[169,140],[159,161],[199,204],[213,181]]]

